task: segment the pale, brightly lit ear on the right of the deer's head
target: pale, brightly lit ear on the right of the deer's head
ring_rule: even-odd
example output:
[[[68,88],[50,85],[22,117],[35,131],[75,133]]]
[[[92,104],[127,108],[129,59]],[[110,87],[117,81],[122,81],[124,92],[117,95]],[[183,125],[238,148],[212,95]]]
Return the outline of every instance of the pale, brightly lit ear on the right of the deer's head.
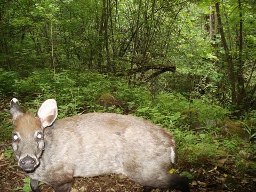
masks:
[[[36,116],[41,120],[42,126],[51,126],[58,115],[57,102],[54,99],[47,99],[39,107]]]

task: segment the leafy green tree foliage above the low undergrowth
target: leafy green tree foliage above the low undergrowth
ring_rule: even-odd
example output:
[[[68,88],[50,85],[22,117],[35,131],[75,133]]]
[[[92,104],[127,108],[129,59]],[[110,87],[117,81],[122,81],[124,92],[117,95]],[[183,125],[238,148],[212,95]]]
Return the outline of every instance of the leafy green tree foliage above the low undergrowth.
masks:
[[[154,3],[142,1],[140,14],[143,14],[143,17],[139,17],[138,31],[134,31],[137,25],[134,21],[138,15],[138,3],[138,1],[132,4],[114,3],[108,10],[111,17],[103,14],[102,2],[92,0],[32,3],[8,1],[3,3],[1,6],[2,36],[0,37],[2,42],[1,66],[4,69],[20,71],[22,77],[38,73],[37,69],[44,70],[45,76],[52,78],[42,79],[34,74],[30,77],[31,79],[26,79],[26,82],[21,80],[21,82],[8,83],[6,77],[17,73],[7,72],[9,74],[6,74],[6,71],[0,71],[4,73],[4,84],[0,86],[0,93],[12,93],[15,90],[18,95],[21,90],[22,94],[27,93],[26,97],[30,97],[28,98],[30,100],[31,94],[44,91],[42,86],[45,87],[46,83],[52,86],[54,82],[54,89],[57,90],[63,83],[73,84],[74,82],[70,80],[74,78],[70,76],[66,79],[62,78],[66,73],[63,69],[71,71],[82,69],[83,71],[86,68],[105,74],[114,72],[118,75],[127,75],[127,71],[131,69],[129,60],[134,57],[134,68],[147,66],[150,63],[159,65],[159,67],[163,64],[176,67],[177,73],[167,71],[148,81],[146,86],[151,92],[158,94],[163,91],[164,87],[167,90],[179,92],[187,98],[203,97],[222,107],[230,107],[231,82],[227,73],[225,51],[216,28],[217,23],[210,21],[210,15],[215,12],[214,3],[211,1],[180,3],[178,0],[167,2],[161,0]],[[240,64],[244,65],[242,75],[247,89],[244,91],[243,100],[246,98],[253,100],[253,93],[252,95],[249,93],[253,91],[253,82],[255,82],[253,67],[256,51],[255,29],[253,28],[255,7],[250,1],[242,2],[241,9],[237,6],[237,1],[223,1],[220,6],[220,15],[229,52],[234,60],[234,73],[238,75],[237,68]],[[26,10],[23,7],[26,7]],[[158,11],[154,12],[151,9]],[[153,12],[154,14],[151,15]],[[240,12],[243,19],[242,40],[244,44],[242,63],[239,63],[237,59],[239,58]],[[108,20],[107,26],[103,25],[104,17]],[[108,29],[108,36],[103,34],[105,27]],[[135,34],[138,35],[140,46],[135,46],[134,55],[132,55],[133,46],[131,45],[135,45]],[[53,77],[52,71],[44,69],[53,69],[53,65],[58,71],[56,77]],[[155,69],[143,71],[142,68],[141,72],[136,73],[133,84],[141,85],[156,71]],[[74,76],[76,73],[72,72],[70,75]],[[76,77],[76,80],[80,81],[79,76]],[[82,75],[81,81],[83,78]],[[35,83],[33,86],[35,81],[41,82],[41,85]],[[159,84],[162,86],[158,86]],[[238,90],[241,87],[241,85],[236,86]],[[127,89],[127,86],[124,88]],[[52,89],[52,87],[47,89]],[[51,93],[54,91],[52,89]],[[66,96],[70,96],[68,92],[74,90],[70,91],[68,88],[63,91],[66,91]],[[74,102],[78,100],[75,96]],[[129,96],[133,97],[133,94]],[[239,110],[243,109],[243,106],[235,107],[240,107]]]

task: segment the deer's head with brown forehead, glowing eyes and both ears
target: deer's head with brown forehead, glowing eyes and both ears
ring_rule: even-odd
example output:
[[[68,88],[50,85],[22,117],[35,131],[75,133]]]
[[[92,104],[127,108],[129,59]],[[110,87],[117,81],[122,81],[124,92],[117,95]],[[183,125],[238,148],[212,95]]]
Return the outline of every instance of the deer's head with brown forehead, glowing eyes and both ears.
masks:
[[[45,108],[47,108],[46,113]],[[18,159],[18,165],[23,170],[31,172],[38,166],[44,148],[44,127],[50,126],[57,117],[56,102],[47,100],[38,109],[37,116],[34,116],[31,113],[23,114],[18,100],[13,98],[11,117],[14,126],[12,134],[14,154]]]

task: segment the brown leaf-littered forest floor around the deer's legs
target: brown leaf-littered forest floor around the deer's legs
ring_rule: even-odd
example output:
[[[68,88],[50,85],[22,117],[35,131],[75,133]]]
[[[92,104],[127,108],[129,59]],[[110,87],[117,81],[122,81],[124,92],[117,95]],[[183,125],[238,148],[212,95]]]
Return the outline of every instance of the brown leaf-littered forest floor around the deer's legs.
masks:
[[[190,180],[190,190],[193,191],[256,191],[255,175],[239,173],[227,174],[225,170],[213,169],[204,170],[201,166],[187,167],[197,170],[196,175]],[[231,175],[223,178],[221,175]],[[23,188],[26,191],[28,181],[25,173],[17,166],[17,160],[12,154],[10,142],[0,143],[0,191],[13,191],[15,188]],[[42,192],[54,190],[43,184],[40,186]],[[29,191],[29,190],[27,190]],[[124,175],[102,175],[92,178],[76,178],[71,192],[84,191],[142,191],[142,187],[131,181]],[[154,190],[160,191],[158,189]],[[178,190],[173,190],[178,191]]]

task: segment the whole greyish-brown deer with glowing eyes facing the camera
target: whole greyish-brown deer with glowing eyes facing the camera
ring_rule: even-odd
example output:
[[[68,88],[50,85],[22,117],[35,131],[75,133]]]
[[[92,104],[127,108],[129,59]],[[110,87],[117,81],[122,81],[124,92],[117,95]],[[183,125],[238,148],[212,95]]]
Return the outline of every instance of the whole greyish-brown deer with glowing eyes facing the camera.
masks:
[[[170,174],[177,150],[172,134],[134,116],[89,113],[57,118],[57,103],[46,100],[36,116],[11,101],[12,147],[33,191],[43,181],[55,191],[70,191],[74,177],[122,173],[153,188],[188,192],[188,179]]]

